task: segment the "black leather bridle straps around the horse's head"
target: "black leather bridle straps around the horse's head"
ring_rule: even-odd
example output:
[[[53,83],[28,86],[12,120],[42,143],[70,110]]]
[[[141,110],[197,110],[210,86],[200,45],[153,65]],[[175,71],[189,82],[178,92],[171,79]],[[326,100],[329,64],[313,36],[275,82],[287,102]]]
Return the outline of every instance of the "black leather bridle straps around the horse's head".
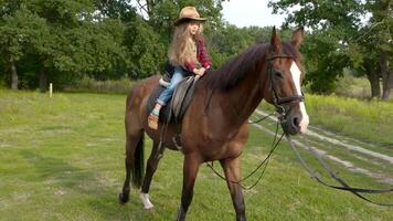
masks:
[[[275,55],[267,57],[267,61],[272,62],[276,59],[291,59],[291,60],[294,60],[294,56],[288,55],[288,54],[275,54]],[[276,88],[276,84],[275,84],[274,76],[273,76],[274,69],[273,69],[272,63],[268,65],[267,72],[270,77],[270,85],[272,85],[272,91],[273,91],[273,103],[277,107],[277,110],[279,112],[279,114],[285,115],[285,107],[283,106],[283,104],[288,104],[291,102],[300,103],[300,102],[305,101],[305,96],[304,96],[302,92],[301,92],[301,95],[291,95],[291,96],[286,96],[286,97],[279,97],[277,94],[277,88]]]

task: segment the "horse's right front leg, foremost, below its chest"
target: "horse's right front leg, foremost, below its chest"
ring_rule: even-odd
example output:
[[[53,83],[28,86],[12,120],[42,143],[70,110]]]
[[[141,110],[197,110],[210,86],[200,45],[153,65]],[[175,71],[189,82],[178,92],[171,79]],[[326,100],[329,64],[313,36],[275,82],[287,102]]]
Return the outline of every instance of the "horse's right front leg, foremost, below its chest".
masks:
[[[241,179],[241,158],[222,159],[220,162],[225,172],[227,188],[231,191],[233,207],[236,211],[236,220],[246,220],[242,188],[236,183]]]

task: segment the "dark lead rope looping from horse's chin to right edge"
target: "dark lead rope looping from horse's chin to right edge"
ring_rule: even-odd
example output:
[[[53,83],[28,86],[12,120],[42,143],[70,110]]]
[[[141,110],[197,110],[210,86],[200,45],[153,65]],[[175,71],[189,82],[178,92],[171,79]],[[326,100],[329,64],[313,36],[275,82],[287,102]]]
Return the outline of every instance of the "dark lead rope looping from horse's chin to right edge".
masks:
[[[343,191],[349,191],[351,193],[353,193],[354,196],[359,197],[362,200],[365,200],[370,203],[373,204],[378,204],[378,206],[384,206],[384,207],[393,207],[393,203],[382,203],[382,202],[375,202],[373,200],[370,200],[368,198],[365,198],[364,196],[360,194],[360,193],[383,193],[383,192],[392,192],[392,189],[362,189],[362,188],[353,188],[350,187],[344,180],[342,180],[336,172],[332,171],[332,169],[329,167],[329,165],[318,155],[318,152],[314,149],[310,148],[308,145],[308,140],[304,138],[304,140],[306,141],[306,149],[308,151],[311,152],[311,155],[318,159],[318,161],[321,164],[321,166],[323,167],[323,169],[329,173],[329,176],[331,178],[333,178],[337,182],[339,182],[341,185],[340,186],[332,186],[332,185],[328,185],[322,179],[319,172],[317,172],[315,169],[312,169],[309,165],[307,165],[307,162],[304,160],[304,158],[301,157],[300,152],[298,151],[298,149],[296,148],[296,146],[294,145],[291,138],[286,135],[286,138],[289,143],[289,146],[291,147],[291,149],[294,150],[296,157],[299,159],[302,168],[311,176],[311,178],[316,179],[319,183],[326,186],[326,187],[330,187],[333,189],[338,189],[338,190],[343,190]]]

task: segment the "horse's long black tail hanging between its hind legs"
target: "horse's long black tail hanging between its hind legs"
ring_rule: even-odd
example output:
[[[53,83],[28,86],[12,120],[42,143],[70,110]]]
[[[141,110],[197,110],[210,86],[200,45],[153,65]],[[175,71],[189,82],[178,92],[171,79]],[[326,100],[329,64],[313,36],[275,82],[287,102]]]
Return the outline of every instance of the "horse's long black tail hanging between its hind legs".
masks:
[[[137,148],[134,154],[134,167],[131,167],[132,173],[132,185],[136,188],[140,188],[144,181],[145,176],[145,156],[144,156],[144,147],[145,147],[145,133],[140,133],[139,140],[137,143]]]

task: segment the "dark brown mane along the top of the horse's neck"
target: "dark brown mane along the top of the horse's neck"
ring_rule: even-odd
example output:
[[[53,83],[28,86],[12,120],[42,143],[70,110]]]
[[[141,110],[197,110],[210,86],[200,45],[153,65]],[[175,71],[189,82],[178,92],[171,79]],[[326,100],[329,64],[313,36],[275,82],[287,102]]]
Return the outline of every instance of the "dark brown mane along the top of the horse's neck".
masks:
[[[267,55],[269,49],[268,43],[256,44],[248,48],[237,56],[230,59],[224,65],[215,71],[210,71],[206,76],[206,82],[210,88],[227,91],[235,86],[247,73],[257,67],[257,63],[263,56]],[[291,55],[294,59],[298,56],[297,50],[289,43],[283,42],[285,54]]]

